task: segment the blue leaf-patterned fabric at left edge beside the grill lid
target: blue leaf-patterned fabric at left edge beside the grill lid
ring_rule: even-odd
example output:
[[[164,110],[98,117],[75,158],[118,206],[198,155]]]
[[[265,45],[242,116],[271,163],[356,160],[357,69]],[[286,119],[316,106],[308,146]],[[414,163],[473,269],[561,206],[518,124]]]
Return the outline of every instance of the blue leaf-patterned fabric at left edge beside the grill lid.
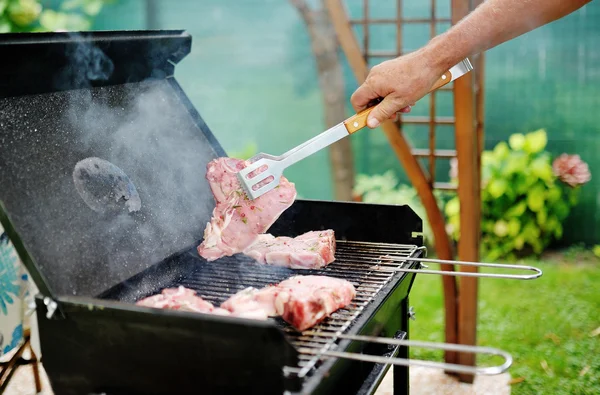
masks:
[[[27,272],[0,226],[0,356],[23,340],[28,284]]]

